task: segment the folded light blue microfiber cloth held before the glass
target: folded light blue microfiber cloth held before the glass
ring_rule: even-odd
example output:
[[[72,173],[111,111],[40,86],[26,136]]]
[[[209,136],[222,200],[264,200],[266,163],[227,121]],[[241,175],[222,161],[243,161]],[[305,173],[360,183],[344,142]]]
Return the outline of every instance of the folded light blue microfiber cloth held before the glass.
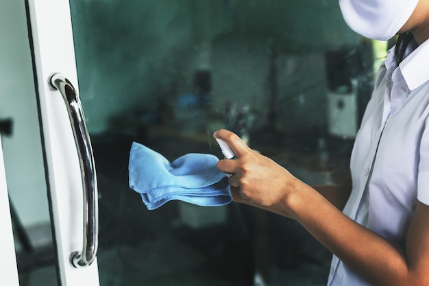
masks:
[[[217,169],[212,154],[190,153],[172,163],[145,145],[133,142],[128,171],[130,188],[140,193],[149,210],[170,200],[198,206],[222,206],[232,201],[228,175]]]

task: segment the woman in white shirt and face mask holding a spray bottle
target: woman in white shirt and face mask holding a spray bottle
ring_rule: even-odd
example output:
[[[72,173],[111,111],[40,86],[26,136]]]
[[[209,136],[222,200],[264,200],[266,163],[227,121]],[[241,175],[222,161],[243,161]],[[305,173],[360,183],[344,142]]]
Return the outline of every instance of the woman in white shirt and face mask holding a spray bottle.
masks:
[[[429,0],[340,0],[359,34],[400,39],[376,78],[351,176],[313,189],[219,130],[236,202],[302,224],[333,254],[328,285],[429,285]]]

